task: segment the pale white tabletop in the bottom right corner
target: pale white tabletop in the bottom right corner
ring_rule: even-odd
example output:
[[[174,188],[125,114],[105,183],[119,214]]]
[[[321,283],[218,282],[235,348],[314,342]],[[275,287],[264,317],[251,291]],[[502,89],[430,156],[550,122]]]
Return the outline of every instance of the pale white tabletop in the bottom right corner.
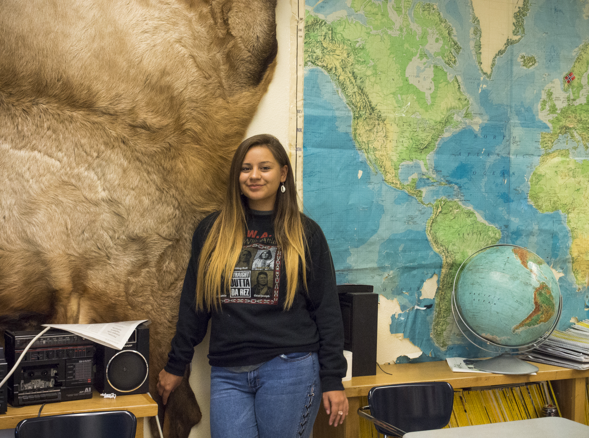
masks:
[[[403,438],[555,438],[589,437],[589,426],[561,417],[534,418],[514,422],[450,427],[406,433]]]

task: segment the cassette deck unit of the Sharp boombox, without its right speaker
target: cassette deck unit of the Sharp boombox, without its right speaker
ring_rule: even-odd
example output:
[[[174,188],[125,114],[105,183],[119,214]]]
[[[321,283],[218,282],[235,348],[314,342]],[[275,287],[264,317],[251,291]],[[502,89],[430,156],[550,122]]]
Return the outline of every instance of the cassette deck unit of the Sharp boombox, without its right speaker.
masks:
[[[4,332],[6,362],[12,369],[35,332]],[[64,330],[51,329],[25,353],[8,379],[12,406],[90,399],[94,343]]]

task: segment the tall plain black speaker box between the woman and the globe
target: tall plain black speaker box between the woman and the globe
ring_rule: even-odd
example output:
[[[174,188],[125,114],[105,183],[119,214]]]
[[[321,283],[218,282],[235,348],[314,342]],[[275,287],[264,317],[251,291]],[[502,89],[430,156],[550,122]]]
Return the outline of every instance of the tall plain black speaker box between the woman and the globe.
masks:
[[[342,309],[343,349],[353,353],[352,377],[376,374],[378,293],[370,285],[337,285]]]

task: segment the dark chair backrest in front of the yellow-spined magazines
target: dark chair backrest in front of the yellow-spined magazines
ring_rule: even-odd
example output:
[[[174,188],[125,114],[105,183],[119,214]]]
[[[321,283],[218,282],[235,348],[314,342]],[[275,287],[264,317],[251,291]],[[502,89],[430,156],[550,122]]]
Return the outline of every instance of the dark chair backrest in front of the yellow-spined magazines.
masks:
[[[441,429],[450,421],[454,389],[448,382],[375,386],[368,393],[370,414],[405,432]],[[380,430],[385,434],[386,431]]]

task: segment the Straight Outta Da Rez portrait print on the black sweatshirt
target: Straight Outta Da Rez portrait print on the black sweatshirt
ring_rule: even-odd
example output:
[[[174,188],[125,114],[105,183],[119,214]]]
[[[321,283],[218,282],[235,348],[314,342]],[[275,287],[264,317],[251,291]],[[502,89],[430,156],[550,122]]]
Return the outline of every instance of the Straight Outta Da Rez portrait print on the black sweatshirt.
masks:
[[[244,245],[223,303],[278,304],[281,259],[282,251],[277,246]]]

